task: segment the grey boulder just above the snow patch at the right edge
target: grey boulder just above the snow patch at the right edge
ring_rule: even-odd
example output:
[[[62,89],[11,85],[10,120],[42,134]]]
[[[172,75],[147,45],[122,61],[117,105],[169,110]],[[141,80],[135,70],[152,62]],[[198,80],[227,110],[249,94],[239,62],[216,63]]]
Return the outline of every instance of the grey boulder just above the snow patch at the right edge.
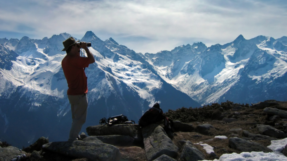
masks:
[[[257,125],[256,128],[263,135],[267,135],[270,137],[276,137],[276,138],[286,137],[286,134],[283,131],[280,131],[270,125]]]

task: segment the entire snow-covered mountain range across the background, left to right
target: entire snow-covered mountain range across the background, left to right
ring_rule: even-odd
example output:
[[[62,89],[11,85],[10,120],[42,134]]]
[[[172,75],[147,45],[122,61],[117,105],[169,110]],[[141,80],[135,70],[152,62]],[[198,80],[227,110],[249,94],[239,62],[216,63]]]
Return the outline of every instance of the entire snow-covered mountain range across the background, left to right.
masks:
[[[21,147],[41,136],[68,139],[71,112],[61,68],[68,37],[0,39],[0,140]],[[226,100],[286,100],[286,36],[239,35],[224,45],[199,42],[144,55],[91,31],[81,41],[91,42],[96,59],[85,69],[89,107],[83,127],[118,114],[137,122],[155,102],[166,112]]]

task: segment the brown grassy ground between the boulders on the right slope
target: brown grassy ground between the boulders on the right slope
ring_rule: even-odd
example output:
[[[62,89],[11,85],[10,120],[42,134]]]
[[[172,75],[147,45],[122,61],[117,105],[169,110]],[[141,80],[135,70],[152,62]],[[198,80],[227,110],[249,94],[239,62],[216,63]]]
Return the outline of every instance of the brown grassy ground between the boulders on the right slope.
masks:
[[[244,130],[249,131],[253,134],[260,134],[260,131],[257,129],[258,124],[263,125],[270,125],[275,127],[280,131],[286,132],[286,125],[287,119],[285,118],[270,118],[272,115],[266,114],[263,112],[263,109],[266,107],[277,108],[281,110],[287,110],[287,102],[279,102],[275,100],[267,100],[262,102],[261,104],[258,103],[253,106],[244,106],[244,105],[233,105],[230,106],[232,108],[223,109],[222,112],[218,112],[217,116],[216,113],[219,109],[209,109],[211,111],[207,111],[206,113],[211,113],[210,118],[199,118],[200,121],[192,121],[189,122],[194,127],[201,125],[201,124],[210,124],[214,127],[211,129],[208,135],[200,134],[196,131],[194,132],[176,132],[176,136],[173,138],[173,142],[175,145],[178,144],[180,140],[190,140],[192,143],[207,143],[214,147],[214,152],[216,156],[208,155],[206,153],[207,160],[213,160],[215,158],[220,157],[222,154],[226,153],[241,153],[242,151],[236,150],[234,148],[230,148],[228,139],[213,139],[215,136],[226,136],[230,137],[246,137],[243,133]],[[237,107],[237,108],[234,108]],[[199,116],[200,117],[200,116]],[[225,120],[229,118],[228,120]],[[234,119],[230,119],[234,118]],[[225,120],[225,121],[223,121]],[[229,122],[229,123],[228,123]],[[249,140],[260,143],[264,146],[268,146],[271,144],[270,140]],[[199,150],[205,152],[201,145],[195,145]]]

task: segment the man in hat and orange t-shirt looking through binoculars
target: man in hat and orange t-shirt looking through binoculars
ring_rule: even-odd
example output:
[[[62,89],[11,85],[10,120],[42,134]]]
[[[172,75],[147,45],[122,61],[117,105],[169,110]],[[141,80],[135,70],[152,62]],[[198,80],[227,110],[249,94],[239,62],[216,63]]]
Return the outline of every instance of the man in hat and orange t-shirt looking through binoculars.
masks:
[[[83,124],[86,122],[88,108],[88,85],[84,68],[95,62],[94,56],[87,47],[86,42],[76,41],[73,37],[63,41],[67,55],[62,60],[62,68],[68,83],[68,99],[71,104],[72,126],[69,141],[77,140]],[[83,48],[88,57],[80,57]]]

